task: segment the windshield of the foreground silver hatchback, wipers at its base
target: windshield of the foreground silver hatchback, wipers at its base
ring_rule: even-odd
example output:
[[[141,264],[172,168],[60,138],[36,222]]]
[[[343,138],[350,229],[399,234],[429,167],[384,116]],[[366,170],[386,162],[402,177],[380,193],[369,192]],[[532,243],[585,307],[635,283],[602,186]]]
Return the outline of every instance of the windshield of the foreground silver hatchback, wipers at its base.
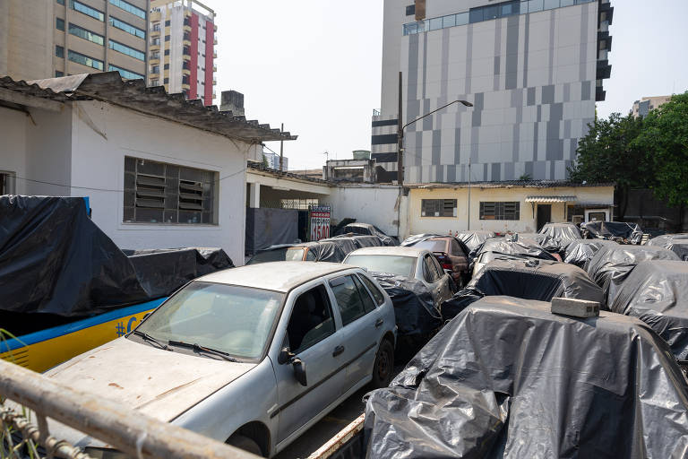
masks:
[[[136,329],[161,342],[187,342],[240,359],[262,355],[284,295],[270,290],[192,282]]]

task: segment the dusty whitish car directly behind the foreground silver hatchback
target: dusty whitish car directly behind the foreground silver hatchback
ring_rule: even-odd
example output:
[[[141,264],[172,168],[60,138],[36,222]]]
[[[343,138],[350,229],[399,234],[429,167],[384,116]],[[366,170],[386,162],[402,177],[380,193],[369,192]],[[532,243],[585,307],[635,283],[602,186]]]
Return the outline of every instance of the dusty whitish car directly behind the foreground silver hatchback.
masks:
[[[419,247],[365,247],[354,250],[344,259],[374,273],[391,273],[423,282],[439,305],[452,298],[451,276],[432,252]]]

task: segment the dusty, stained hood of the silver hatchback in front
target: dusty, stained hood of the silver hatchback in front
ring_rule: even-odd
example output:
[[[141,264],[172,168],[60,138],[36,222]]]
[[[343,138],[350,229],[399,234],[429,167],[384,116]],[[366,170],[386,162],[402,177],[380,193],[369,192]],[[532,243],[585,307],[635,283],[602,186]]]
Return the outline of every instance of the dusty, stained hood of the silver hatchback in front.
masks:
[[[254,366],[118,338],[67,360],[45,376],[169,421]]]

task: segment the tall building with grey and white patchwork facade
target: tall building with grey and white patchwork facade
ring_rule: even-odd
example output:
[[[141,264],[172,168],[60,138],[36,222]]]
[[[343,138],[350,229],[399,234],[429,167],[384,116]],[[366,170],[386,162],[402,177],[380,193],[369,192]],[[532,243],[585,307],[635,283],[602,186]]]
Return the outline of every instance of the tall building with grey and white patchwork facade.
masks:
[[[385,0],[372,157],[408,183],[567,178],[611,73],[609,0]],[[401,90],[399,73],[402,74]]]

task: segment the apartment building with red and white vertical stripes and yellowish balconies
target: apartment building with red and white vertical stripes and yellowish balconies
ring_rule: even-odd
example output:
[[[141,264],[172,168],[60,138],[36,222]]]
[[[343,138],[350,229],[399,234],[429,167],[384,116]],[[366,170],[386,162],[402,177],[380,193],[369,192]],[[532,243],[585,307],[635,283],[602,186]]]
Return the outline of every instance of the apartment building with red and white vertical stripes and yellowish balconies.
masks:
[[[165,86],[186,99],[215,99],[215,13],[195,0],[150,3],[150,86]]]

